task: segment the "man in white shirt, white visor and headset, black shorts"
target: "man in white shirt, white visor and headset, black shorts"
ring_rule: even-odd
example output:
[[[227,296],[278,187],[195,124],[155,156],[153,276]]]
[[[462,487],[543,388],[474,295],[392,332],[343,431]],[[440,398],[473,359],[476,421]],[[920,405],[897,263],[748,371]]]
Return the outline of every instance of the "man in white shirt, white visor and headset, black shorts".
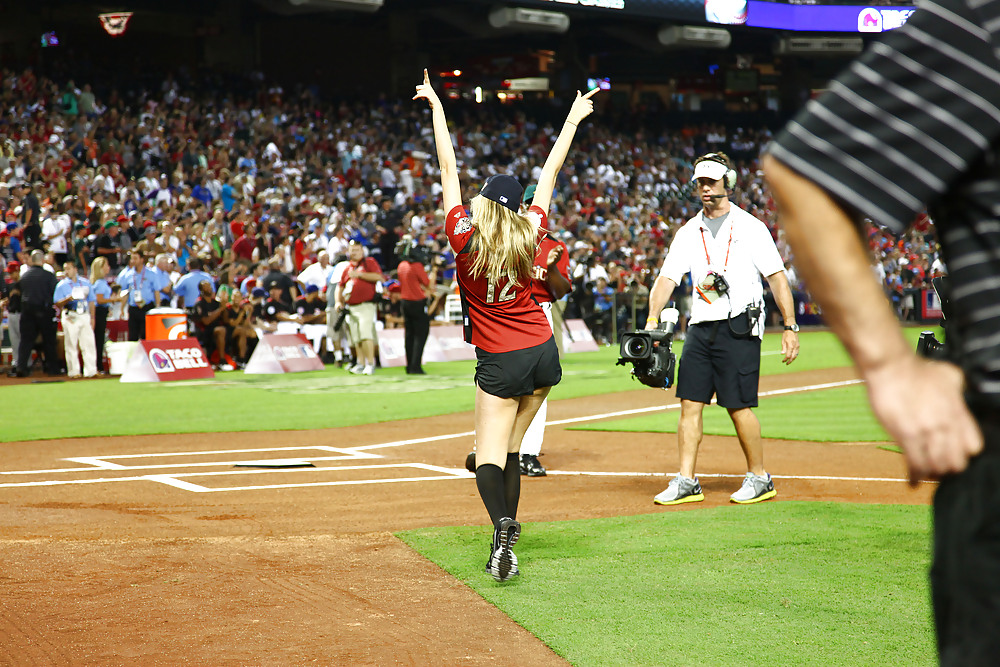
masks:
[[[764,336],[760,277],[767,278],[784,318],[781,354],[786,364],[799,354],[795,305],[770,231],[729,200],[726,191],[736,186],[729,158],[724,153],[698,158],[692,179],[702,210],[677,230],[649,295],[646,329],[656,329],[674,288],[691,273],[691,319],[677,372],[680,471],[654,502],[676,505],[705,499],[695,463],[703,436],[702,411],[715,396],[733,420],[747,461],[743,485],[730,500],[756,503],[777,495],[764,469],[760,422],[752,410],[757,406]]]

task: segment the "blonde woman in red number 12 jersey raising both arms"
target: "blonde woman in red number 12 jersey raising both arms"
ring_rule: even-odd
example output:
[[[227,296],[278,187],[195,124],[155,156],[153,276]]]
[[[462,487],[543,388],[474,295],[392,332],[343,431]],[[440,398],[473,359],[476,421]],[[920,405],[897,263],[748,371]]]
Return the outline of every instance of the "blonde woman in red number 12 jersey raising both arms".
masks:
[[[544,234],[556,175],[562,168],[577,124],[594,110],[591,96],[576,94],[566,123],[538,178],[531,211],[519,211],[523,188],[497,174],[472,200],[472,215],[462,206],[455,147],[448,121],[427,70],[413,99],[431,105],[434,141],[441,169],[445,232],[455,253],[466,341],[476,346],[476,485],[493,521],[493,543],[486,571],[497,581],[518,574],[511,548],[521,534],[515,520],[521,493],[518,449],[525,429],[562,369],[548,321],[531,298],[535,251]]]

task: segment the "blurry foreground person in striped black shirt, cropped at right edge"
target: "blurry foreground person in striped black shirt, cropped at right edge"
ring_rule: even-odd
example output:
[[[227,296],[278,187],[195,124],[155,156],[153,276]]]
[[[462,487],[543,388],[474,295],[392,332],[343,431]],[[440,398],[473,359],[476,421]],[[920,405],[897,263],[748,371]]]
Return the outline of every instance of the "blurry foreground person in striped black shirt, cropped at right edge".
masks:
[[[995,2],[920,5],[762,163],[796,266],[910,482],[940,480],[930,583],[946,667],[1000,655],[998,17]],[[866,217],[902,234],[925,206],[949,269],[947,360],[914,353],[867,252]]]

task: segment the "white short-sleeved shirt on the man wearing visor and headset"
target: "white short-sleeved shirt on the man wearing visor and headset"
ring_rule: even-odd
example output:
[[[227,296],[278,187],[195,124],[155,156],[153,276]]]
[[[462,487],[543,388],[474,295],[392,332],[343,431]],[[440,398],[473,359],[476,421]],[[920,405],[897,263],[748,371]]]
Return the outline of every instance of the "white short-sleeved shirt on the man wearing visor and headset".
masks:
[[[750,305],[763,306],[764,287],[760,277],[784,270],[778,248],[767,226],[733,204],[729,216],[716,236],[704,221],[704,211],[688,220],[677,230],[660,275],[676,284],[688,271],[694,285],[691,294],[691,324],[724,320],[742,313]],[[715,298],[714,292],[703,289],[709,272],[725,276],[729,294]],[[709,303],[708,299],[714,299]],[[764,313],[761,309],[763,335]]]

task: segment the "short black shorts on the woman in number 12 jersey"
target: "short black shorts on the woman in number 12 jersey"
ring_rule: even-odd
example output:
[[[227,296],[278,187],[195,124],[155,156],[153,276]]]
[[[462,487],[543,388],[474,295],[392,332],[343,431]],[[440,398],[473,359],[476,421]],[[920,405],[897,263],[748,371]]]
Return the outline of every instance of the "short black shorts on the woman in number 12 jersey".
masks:
[[[500,398],[528,396],[536,389],[559,384],[562,366],[556,340],[511,352],[486,352],[476,348],[476,385]]]

